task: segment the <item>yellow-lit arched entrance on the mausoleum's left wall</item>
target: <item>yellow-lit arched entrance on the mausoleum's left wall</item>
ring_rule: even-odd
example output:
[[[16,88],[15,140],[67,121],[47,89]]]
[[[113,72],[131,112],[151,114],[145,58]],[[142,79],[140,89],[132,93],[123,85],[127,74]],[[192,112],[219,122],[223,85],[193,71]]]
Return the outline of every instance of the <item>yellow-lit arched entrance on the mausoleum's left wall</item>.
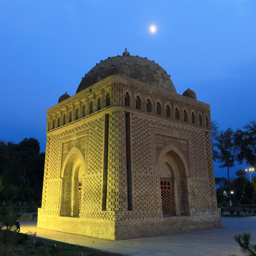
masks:
[[[61,216],[79,216],[81,214],[84,157],[78,148],[72,148],[67,154],[61,170]]]

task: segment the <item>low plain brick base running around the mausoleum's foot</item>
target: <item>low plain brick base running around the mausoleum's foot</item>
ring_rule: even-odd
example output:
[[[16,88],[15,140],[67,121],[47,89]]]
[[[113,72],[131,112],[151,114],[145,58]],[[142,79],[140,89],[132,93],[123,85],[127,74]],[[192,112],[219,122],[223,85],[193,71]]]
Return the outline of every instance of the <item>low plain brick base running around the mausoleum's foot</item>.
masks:
[[[158,220],[95,220],[62,216],[38,215],[38,228],[70,234],[122,240],[221,228],[221,216],[173,216]]]

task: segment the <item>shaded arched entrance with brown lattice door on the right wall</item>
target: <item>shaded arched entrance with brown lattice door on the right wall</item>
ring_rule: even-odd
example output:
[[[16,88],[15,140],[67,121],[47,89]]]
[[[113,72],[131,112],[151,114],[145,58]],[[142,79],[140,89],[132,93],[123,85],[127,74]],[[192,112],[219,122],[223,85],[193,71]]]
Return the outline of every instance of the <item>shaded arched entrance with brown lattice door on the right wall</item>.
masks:
[[[161,207],[165,216],[189,215],[189,170],[182,152],[168,145],[157,161]]]

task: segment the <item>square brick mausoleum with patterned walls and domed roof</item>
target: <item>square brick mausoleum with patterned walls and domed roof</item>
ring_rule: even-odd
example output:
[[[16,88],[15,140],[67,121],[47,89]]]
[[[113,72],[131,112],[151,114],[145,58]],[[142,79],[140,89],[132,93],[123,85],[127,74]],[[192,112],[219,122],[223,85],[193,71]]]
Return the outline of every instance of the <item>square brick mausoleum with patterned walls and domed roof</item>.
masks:
[[[38,227],[111,240],[220,228],[210,121],[154,61],[100,61],[47,109]]]

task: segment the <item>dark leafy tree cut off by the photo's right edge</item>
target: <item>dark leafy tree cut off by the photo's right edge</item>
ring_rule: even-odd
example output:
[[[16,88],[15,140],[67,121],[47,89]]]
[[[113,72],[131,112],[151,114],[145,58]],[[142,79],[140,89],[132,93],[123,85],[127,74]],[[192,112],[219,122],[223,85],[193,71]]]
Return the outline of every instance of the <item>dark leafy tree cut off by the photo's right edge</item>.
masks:
[[[256,166],[256,121],[250,121],[244,130],[237,129],[234,132],[234,146],[236,149],[236,160],[239,164],[246,161],[248,166]]]

